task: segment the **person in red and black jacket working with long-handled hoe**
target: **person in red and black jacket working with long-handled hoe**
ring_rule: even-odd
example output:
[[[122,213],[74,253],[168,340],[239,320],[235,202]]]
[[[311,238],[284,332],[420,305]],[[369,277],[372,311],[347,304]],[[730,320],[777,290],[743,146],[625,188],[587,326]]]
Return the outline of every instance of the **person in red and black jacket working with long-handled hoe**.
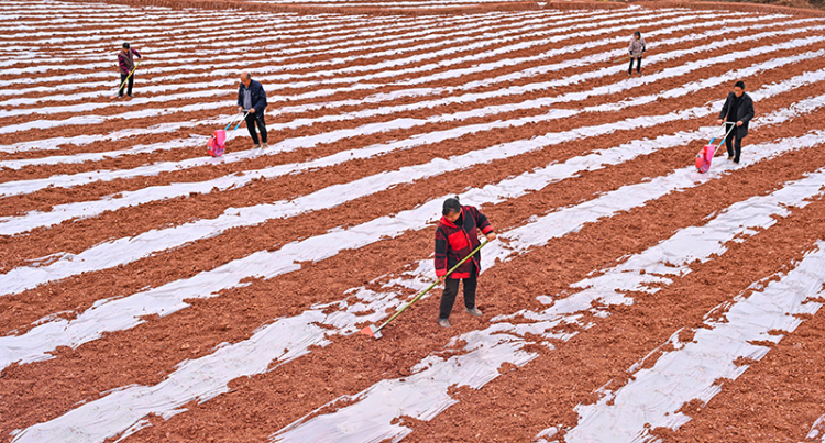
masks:
[[[446,283],[441,295],[438,324],[450,328],[450,312],[459,294],[459,280],[464,280],[464,307],[466,312],[481,317],[482,312],[475,307],[475,287],[481,272],[481,251],[464,262],[451,275],[447,272],[466,257],[481,243],[477,230],[493,241],[496,234],[487,218],[471,206],[462,206],[459,198],[444,200],[442,218],[436,229],[436,276],[439,283]]]

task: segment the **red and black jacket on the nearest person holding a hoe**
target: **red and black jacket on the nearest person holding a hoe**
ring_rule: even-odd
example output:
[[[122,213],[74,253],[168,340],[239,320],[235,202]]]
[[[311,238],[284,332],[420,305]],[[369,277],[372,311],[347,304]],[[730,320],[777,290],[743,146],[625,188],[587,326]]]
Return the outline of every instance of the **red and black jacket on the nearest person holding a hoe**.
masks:
[[[473,207],[462,206],[461,217],[455,220],[455,223],[447,220],[446,217],[441,218],[436,229],[437,276],[441,277],[447,274],[481,244],[476,229],[485,235],[493,232],[487,218]],[[475,272],[481,272],[481,251],[461,264],[448,278],[470,278],[473,264],[475,264]]]

